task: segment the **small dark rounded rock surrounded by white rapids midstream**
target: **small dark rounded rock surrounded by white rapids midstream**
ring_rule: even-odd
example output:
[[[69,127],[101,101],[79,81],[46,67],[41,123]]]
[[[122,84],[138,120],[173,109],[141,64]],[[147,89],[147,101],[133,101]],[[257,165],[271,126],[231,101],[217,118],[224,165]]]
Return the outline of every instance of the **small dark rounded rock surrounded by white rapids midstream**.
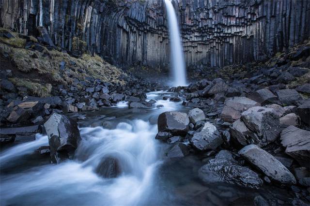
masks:
[[[120,162],[113,157],[104,158],[99,163],[96,173],[105,178],[118,177],[122,173]]]

